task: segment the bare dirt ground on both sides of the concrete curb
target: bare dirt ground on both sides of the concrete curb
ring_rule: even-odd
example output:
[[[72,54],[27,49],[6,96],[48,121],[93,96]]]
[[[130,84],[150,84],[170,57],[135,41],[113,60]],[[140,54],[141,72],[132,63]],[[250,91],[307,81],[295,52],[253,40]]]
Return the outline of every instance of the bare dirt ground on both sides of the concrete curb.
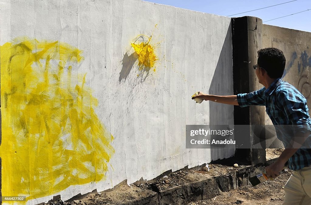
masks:
[[[281,149],[267,149],[267,160],[276,158],[281,154]],[[239,167],[234,168],[233,164],[238,163]],[[62,200],[54,201],[49,204],[53,205],[86,205],[86,204],[109,204],[117,205],[129,203],[132,200],[146,198],[155,195],[156,192],[165,191],[175,186],[188,184],[198,179],[209,179],[214,176],[225,175],[231,171],[237,171],[247,165],[239,161],[222,160],[220,162],[213,162],[203,167],[200,170],[181,170],[146,184],[123,184],[111,191],[104,191],[100,193],[90,193],[86,196],[74,198],[70,202],[63,202]],[[188,205],[225,205],[225,204],[241,204],[245,205],[259,205],[259,204],[282,204],[284,198],[283,186],[290,177],[291,171],[283,173],[277,177],[276,180],[269,180],[265,183],[259,184],[255,187],[248,185],[239,189],[223,192],[215,198],[208,200],[200,200],[188,203]],[[238,201],[241,200],[241,201]]]

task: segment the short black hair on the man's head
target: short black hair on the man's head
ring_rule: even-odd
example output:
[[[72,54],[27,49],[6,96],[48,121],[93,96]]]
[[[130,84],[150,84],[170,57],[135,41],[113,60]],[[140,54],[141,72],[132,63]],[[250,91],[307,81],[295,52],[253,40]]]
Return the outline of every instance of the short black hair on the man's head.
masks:
[[[286,59],[283,51],[276,48],[265,48],[257,51],[259,67],[262,67],[271,78],[283,76]]]

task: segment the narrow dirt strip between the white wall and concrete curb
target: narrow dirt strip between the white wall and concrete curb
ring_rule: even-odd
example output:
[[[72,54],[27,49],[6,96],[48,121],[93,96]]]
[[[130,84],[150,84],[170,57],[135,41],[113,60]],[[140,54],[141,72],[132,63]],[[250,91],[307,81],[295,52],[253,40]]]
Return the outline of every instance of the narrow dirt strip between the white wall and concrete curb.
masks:
[[[71,202],[63,202],[58,200],[53,202],[53,205],[86,205],[86,204],[109,204],[118,205],[130,202],[134,199],[145,198],[155,192],[164,191],[175,186],[188,184],[198,179],[208,179],[213,176],[219,176],[226,174],[233,170],[239,170],[246,165],[239,165],[238,168],[232,166],[220,165],[220,164],[209,164],[200,170],[181,170],[170,173],[155,182],[146,184],[123,184],[109,192],[91,193],[83,198]]]

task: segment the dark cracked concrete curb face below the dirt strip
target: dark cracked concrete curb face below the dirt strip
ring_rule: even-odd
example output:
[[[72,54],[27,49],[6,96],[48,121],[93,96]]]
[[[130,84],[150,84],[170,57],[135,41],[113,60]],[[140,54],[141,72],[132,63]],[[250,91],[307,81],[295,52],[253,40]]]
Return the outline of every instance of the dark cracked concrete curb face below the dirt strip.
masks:
[[[237,189],[249,185],[248,177],[252,177],[264,171],[264,167],[272,164],[276,159],[267,161],[265,164],[250,165],[245,168],[230,171],[226,175],[211,177],[189,184],[173,187],[164,191],[159,191],[155,184],[151,184],[154,194],[146,197],[122,203],[123,205],[168,205],[187,204],[191,201],[211,199],[222,192]]]

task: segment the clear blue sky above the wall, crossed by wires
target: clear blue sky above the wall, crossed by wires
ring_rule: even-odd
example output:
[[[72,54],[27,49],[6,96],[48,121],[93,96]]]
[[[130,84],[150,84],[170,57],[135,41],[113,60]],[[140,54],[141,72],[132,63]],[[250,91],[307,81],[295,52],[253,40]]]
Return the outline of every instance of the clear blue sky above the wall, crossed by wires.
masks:
[[[171,5],[174,7],[189,9],[193,11],[199,11],[204,13],[216,14],[220,16],[229,16],[241,12],[247,12],[254,9],[263,7],[269,7],[276,4],[281,4],[274,7],[269,7],[253,12],[247,12],[230,17],[240,16],[256,16],[261,18],[263,24],[269,24],[273,26],[280,26],[295,30],[304,30],[311,32],[311,10],[302,12],[304,10],[311,9],[311,0],[147,0],[148,2],[154,2],[159,4]],[[290,15],[284,18],[268,21],[281,16]]]

